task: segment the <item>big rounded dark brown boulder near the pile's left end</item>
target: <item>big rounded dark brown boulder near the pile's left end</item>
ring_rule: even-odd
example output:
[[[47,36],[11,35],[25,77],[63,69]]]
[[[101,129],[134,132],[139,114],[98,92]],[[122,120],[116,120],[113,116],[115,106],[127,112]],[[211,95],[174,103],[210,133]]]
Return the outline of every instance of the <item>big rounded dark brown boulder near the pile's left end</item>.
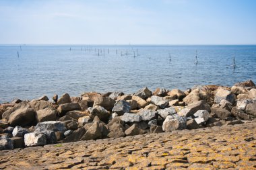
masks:
[[[8,123],[11,126],[26,126],[35,120],[36,112],[31,108],[20,108],[9,116]]]

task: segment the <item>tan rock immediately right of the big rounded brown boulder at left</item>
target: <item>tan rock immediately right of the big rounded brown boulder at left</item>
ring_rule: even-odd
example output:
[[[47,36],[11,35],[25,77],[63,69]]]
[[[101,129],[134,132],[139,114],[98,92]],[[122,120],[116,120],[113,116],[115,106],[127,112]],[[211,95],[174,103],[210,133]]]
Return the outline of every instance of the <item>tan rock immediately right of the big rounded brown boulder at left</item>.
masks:
[[[37,122],[45,122],[57,119],[57,112],[51,108],[36,111]]]

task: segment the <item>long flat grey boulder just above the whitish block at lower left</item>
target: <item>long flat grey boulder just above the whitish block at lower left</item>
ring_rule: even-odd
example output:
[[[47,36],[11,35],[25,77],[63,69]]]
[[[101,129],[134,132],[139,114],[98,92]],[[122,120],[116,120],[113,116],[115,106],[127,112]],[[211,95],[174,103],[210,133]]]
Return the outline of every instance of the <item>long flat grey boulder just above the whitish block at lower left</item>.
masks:
[[[54,132],[57,132],[57,131],[65,132],[67,130],[65,127],[65,124],[59,121],[39,122],[36,125],[36,129],[38,129],[40,132],[44,130],[51,130]]]

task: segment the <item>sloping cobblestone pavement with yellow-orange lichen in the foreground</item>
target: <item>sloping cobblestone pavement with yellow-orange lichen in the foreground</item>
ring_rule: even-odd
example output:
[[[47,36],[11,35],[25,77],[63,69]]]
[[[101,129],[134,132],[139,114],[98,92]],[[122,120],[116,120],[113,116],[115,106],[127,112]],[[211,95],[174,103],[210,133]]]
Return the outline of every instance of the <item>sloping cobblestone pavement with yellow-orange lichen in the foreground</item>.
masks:
[[[0,169],[256,169],[256,122],[0,151]]]

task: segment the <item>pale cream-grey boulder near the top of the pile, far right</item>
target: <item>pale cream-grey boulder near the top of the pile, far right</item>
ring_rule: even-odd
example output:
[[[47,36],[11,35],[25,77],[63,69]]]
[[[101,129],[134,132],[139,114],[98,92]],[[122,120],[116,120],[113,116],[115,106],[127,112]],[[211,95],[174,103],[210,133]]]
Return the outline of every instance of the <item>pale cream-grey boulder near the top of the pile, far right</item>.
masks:
[[[226,89],[218,88],[216,90],[216,95],[214,97],[214,102],[220,103],[220,101],[222,101],[222,99],[226,99],[230,103],[234,103],[234,101],[236,99],[236,95],[234,95],[233,93],[231,93],[231,91],[228,91]]]

